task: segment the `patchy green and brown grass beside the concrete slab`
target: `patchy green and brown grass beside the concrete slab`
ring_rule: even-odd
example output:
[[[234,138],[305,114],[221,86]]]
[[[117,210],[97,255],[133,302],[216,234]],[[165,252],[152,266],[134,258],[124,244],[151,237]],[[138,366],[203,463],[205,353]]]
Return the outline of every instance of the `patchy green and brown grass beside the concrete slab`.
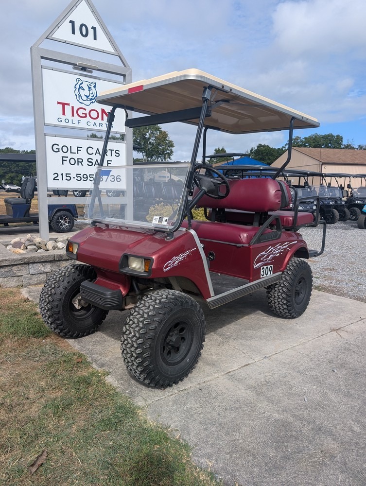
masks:
[[[172,430],[51,333],[18,289],[0,289],[0,302],[1,485],[218,484]]]

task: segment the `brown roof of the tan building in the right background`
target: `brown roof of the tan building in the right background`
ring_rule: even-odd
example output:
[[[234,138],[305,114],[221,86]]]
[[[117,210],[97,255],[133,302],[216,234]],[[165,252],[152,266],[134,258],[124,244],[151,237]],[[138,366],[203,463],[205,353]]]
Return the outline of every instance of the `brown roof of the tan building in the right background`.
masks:
[[[293,147],[292,150],[325,164],[366,165],[366,150]]]

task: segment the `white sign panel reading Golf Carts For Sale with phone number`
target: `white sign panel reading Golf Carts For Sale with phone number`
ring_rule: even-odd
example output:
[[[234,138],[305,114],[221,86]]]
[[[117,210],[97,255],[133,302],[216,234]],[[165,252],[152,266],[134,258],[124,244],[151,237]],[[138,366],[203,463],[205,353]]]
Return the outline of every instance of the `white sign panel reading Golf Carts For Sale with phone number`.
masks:
[[[46,135],[47,187],[49,189],[90,189],[99,167],[102,139],[76,139]],[[124,142],[109,141],[104,167],[126,164]],[[108,188],[122,189],[109,180]],[[116,185],[117,184],[117,185]]]

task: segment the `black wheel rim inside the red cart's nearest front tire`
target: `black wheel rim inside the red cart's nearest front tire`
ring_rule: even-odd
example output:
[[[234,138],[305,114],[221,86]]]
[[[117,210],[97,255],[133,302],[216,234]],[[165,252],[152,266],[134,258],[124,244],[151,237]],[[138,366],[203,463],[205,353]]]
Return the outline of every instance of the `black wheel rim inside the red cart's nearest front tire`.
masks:
[[[193,341],[193,329],[190,323],[178,321],[166,332],[160,347],[162,361],[168,366],[176,366],[185,360]]]

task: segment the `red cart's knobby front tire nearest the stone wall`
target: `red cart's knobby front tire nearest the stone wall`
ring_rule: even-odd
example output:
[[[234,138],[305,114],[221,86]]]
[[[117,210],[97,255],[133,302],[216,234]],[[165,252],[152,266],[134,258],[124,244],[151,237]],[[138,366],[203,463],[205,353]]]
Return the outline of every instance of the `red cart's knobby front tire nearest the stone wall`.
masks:
[[[73,264],[61,268],[47,280],[39,298],[39,310],[52,331],[77,338],[92,334],[102,324],[108,311],[91,304],[78,310],[72,304],[82,282],[95,277],[89,265]]]

